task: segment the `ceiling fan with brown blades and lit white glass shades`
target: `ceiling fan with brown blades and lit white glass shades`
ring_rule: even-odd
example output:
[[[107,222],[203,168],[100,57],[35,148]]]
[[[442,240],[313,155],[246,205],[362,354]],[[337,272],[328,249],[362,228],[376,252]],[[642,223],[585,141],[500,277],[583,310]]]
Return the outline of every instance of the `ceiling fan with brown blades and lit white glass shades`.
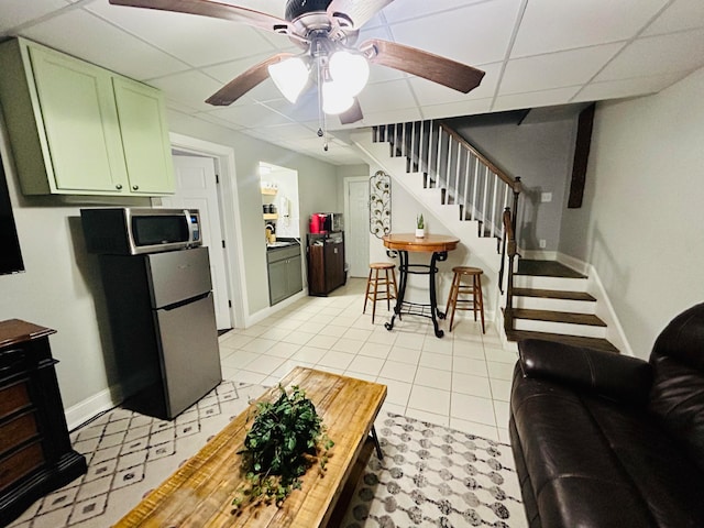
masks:
[[[213,106],[231,105],[267,77],[292,102],[317,82],[321,117],[323,112],[337,113],[342,124],[349,124],[363,118],[356,95],[366,85],[369,63],[424,77],[463,94],[476,88],[484,77],[480,69],[389,41],[370,38],[355,47],[360,28],[393,0],[287,0],[285,20],[211,0],[109,1],[116,6],[241,22],[287,35],[302,48],[298,55],[278,53],[252,66],[206,100]]]

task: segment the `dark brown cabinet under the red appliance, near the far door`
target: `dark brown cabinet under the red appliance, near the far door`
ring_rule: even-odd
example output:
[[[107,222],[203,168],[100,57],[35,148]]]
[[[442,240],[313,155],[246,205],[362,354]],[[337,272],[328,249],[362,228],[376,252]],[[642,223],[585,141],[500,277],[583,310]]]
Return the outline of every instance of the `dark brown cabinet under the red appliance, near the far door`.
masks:
[[[344,233],[308,235],[308,294],[326,296],[344,285]]]

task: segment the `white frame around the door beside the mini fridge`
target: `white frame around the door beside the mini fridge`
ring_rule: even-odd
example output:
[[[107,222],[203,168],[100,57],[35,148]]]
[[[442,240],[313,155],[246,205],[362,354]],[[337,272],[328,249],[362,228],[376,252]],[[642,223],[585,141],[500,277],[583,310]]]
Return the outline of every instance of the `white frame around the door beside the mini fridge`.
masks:
[[[172,148],[187,154],[215,160],[216,174],[219,177],[218,206],[220,208],[220,228],[226,242],[226,277],[228,298],[232,300],[230,320],[232,328],[246,327],[245,307],[246,284],[244,283],[244,254],[242,248],[242,221],[240,218],[234,148],[211,143],[188,135],[169,132]]]

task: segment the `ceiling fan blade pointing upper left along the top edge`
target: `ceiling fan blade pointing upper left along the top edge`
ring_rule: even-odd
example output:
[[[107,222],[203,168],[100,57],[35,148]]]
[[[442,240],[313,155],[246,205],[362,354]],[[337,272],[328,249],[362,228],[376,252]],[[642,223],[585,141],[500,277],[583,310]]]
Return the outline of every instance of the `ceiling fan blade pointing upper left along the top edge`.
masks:
[[[213,19],[242,22],[275,33],[289,33],[289,24],[283,19],[271,14],[240,8],[229,3],[213,2],[210,0],[109,0],[113,6],[127,6],[130,8],[157,9],[161,11],[174,11],[177,13],[199,14]]]

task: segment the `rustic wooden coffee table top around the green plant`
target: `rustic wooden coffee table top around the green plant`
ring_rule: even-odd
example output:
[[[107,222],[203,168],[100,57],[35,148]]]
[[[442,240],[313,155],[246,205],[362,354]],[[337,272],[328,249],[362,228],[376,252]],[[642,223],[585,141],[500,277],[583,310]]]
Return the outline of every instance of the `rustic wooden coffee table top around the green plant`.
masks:
[[[336,442],[321,477],[314,465],[280,508],[244,506],[233,513],[232,499],[244,482],[240,455],[251,426],[248,410],[234,418],[195,457],[145,497],[114,528],[306,527],[324,526],[386,397],[386,385],[297,366],[282,380],[298,385],[315,404],[328,436]],[[257,402],[280,394],[270,388]],[[255,407],[256,403],[250,406]]]

